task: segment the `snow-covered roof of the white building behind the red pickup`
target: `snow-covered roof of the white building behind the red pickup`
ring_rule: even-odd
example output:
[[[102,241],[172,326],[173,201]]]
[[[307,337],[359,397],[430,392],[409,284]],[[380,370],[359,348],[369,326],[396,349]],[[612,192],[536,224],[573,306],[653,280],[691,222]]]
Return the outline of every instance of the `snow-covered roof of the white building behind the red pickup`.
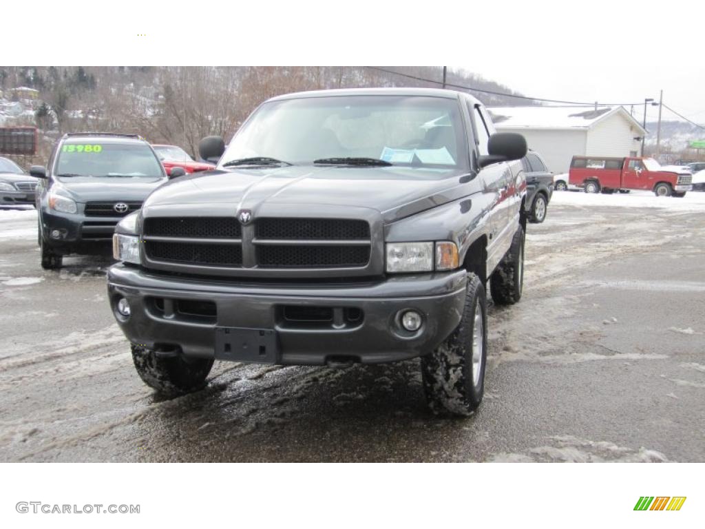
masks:
[[[624,107],[489,107],[488,110],[498,128],[583,130],[620,114],[639,132],[646,132]]]

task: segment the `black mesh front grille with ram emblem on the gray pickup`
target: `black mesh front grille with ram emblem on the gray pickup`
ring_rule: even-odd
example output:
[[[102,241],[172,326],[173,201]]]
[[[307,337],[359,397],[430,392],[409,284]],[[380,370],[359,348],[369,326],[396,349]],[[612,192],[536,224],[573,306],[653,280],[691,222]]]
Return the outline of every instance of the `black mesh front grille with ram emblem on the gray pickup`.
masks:
[[[357,219],[149,217],[143,236],[149,261],[182,267],[360,268],[372,251],[369,224]]]

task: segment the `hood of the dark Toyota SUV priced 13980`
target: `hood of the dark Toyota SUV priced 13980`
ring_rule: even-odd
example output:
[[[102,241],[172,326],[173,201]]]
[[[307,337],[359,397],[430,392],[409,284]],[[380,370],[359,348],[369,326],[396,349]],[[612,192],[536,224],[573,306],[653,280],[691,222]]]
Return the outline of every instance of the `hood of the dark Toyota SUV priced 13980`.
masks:
[[[62,178],[51,190],[67,195],[76,202],[142,202],[166,178]]]

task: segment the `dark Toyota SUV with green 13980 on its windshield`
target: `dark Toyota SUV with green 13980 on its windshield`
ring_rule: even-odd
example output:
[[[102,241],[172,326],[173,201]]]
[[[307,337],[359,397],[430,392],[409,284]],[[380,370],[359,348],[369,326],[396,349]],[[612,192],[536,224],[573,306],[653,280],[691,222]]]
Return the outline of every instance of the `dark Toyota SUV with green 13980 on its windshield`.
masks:
[[[40,178],[37,240],[44,269],[61,267],[63,255],[104,253],[118,221],[167,181],[149,143],[110,133],[64,135],[47,168],[32,166],[30,174]]]

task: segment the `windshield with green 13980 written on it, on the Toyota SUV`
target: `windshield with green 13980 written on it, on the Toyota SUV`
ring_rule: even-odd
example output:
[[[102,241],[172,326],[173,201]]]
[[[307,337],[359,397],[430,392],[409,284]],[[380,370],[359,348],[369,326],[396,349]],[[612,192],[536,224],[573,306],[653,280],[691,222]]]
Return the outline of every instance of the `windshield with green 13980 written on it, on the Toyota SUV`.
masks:
[[[141,143],[66,142],[59,150],[56,176],[161,178],[159,159]]]

